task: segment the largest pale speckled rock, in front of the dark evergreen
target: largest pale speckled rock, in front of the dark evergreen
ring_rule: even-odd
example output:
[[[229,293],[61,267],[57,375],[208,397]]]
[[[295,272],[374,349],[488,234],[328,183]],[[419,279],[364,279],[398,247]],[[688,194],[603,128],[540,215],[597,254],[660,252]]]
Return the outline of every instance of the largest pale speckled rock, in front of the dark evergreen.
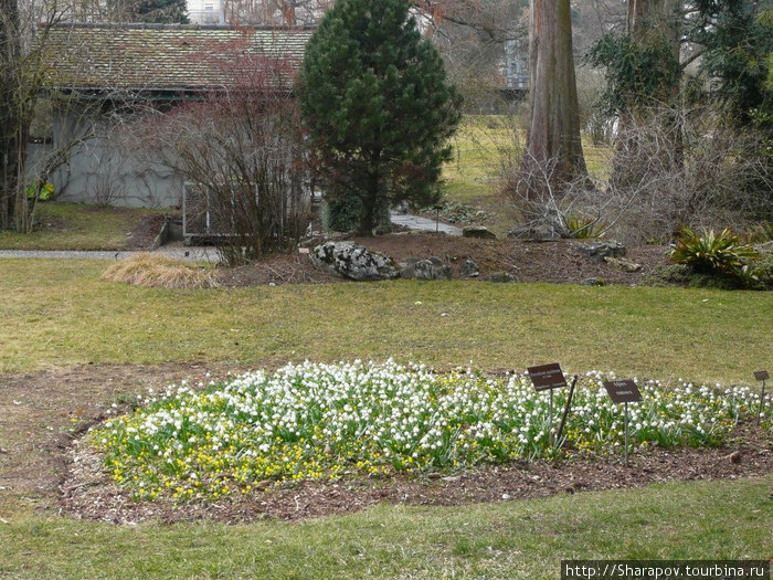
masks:
[[[354,242],[326,242],[309,257],[317,267],[349,280],[390,280],[400,274],[391,257]]]

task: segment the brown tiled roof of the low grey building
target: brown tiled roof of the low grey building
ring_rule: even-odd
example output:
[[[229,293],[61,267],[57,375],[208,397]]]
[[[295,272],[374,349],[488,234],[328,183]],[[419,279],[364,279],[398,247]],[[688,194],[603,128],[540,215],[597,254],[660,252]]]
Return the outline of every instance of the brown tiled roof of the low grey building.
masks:
[[[234,29],[184,24],[60,24],[50,30],[50,86],[96,91],[200,92],[271,68],[292,83],[309,29]],[[276,71],[282,71],[277,73]]]

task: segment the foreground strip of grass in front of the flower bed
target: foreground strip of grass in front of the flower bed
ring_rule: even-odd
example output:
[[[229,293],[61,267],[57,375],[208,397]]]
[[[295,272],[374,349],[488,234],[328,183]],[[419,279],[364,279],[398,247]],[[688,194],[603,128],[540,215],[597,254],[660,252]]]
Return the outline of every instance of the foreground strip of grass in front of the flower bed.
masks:
[[[10,578],[529,578],[561,559],[767,559],[773,477],[250,526],[0,526]]]

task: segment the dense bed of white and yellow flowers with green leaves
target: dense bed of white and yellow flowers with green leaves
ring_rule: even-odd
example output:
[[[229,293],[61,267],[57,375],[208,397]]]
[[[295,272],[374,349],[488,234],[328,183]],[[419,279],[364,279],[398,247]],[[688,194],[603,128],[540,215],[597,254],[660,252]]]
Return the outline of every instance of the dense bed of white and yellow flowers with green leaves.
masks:
[[[622,453],[624,414],[600,372],[578,384],[564,452]],[[639,381],[629,410],[635,445],[716,445],[759,396],[678,381]],[[92,430],[113,479],[137,498],[176,500],[247,495],[256,484],[455,471],[558,453],[566,392],[536,392],[527,376],[470,369],[435,373],[422,365],[287,366],[225,382],[170,386],[134,413]],[[763,420],[771,424],[770,408]]]

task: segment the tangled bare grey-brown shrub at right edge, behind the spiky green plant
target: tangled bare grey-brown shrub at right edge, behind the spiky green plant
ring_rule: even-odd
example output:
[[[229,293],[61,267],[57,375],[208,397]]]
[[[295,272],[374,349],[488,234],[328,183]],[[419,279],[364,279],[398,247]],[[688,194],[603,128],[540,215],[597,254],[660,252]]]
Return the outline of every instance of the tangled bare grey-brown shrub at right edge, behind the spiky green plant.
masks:
[[[631,243],[673,239],[681,225],[739,228],[771,210],[773,157],[765,136],[740,133],[710,112],[655,112],[622,124],[604,213]],[[597,200],[580,204],[599,208]]]

